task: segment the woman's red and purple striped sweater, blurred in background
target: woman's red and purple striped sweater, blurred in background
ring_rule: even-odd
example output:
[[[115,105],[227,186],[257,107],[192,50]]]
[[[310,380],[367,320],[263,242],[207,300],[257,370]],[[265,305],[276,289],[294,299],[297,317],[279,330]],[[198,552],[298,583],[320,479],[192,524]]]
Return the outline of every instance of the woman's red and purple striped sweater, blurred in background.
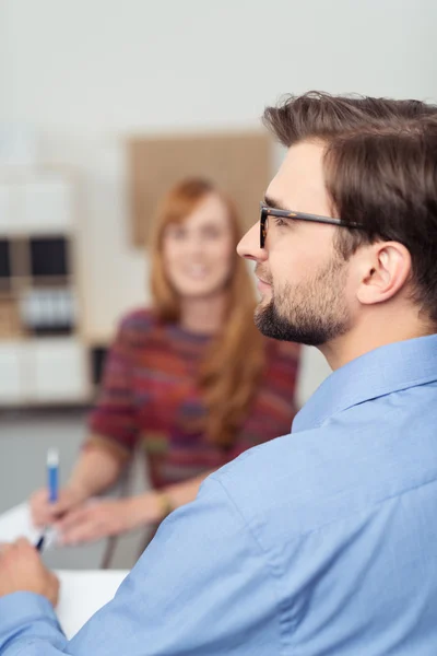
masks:
[[[141,444],[154,488],[221,467],[291,430],[299,348],[269,339],[265,371],[234,447],[224,452],[196,429],[205,413],[197,379],[210,340],[140,309],[121,321],[108,352],[91,434],[127,456]]]

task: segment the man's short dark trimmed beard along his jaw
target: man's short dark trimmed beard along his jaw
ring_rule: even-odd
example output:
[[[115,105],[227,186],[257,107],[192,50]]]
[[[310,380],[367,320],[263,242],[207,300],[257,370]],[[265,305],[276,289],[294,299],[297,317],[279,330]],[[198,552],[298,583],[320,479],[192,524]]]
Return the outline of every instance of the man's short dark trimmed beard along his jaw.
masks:
[[[265,337],[310,347],[324,344],[344,335],[350,326],[344,296],[344,260],[338,256],[314,278],[298,285],[287,282],[268,305],[257,307],[257,328]],[[265,276],[263,279],[271,282]]]

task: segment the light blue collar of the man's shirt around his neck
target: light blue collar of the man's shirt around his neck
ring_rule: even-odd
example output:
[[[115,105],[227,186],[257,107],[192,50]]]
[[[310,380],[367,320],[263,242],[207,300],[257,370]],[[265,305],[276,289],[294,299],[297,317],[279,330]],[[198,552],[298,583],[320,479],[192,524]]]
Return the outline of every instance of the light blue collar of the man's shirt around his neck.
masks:
[[[293,433],[316,429],[352,406],[433,380],[437,380],[437,335],[380,347],[328,376],[296,414]]]

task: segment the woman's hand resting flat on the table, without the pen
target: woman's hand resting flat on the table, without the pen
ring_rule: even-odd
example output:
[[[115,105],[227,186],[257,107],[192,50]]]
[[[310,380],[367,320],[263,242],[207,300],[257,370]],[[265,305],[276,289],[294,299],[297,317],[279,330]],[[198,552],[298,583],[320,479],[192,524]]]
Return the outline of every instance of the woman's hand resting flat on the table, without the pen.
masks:
[[[120,500],[93,500],[55,524],[61,544],[93,542],[160,522],[162,503],[154,492]]]

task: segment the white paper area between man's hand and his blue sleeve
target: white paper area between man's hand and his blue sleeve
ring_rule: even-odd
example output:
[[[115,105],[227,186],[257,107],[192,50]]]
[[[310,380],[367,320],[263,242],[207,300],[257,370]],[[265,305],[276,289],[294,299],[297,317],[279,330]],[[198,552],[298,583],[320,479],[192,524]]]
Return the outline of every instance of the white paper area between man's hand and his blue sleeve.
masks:
[[[56,612],[68,639],[114,598],[127,570],[58,571],[61,588]]]

